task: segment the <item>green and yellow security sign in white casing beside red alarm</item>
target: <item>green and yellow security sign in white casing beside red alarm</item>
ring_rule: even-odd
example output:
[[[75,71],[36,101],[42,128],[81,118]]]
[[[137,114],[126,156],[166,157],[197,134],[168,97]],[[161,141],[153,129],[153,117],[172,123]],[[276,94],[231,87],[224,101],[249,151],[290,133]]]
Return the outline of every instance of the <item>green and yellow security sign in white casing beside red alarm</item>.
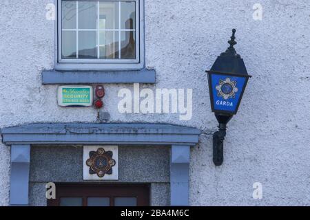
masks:
[[[93,90],[90,86],[61,86],[58,88],[60,106],[92,106]]]

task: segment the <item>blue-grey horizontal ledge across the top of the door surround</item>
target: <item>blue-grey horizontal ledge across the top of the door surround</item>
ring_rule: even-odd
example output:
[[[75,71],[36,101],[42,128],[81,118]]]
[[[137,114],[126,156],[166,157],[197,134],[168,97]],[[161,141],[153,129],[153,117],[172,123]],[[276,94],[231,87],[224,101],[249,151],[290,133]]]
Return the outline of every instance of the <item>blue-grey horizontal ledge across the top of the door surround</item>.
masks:
[[[198,143],[199,129],[170,124],[28,124],[1,129],[4,144]]]

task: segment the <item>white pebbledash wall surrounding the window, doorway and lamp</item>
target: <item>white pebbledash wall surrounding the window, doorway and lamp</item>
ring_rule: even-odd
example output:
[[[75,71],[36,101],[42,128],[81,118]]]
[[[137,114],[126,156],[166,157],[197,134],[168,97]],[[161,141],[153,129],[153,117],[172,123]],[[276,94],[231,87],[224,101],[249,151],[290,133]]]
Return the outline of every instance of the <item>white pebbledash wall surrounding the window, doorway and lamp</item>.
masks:
[[[59,107],[57,86],[41,83],[41,72],[54,65],[54,21],[45,19],[48,3],[53,1],[0,3],[0,128],[96,122],[95,109]],[[253,19],[255,3],[262,5],[262,20]],[[309,206],[309,8],[307,0],[145,0],[145,62],[156,70],[156,84],[140,87],[193,89],[192,119],[181,121],[171,113],[119,113],[118,91],[133,85],[104,84],[107,122],[168,123],[202,130],[190,152],[191,206]],[[224,164],[215,167],[211,134],[217,123],[205,70],[227,48],[232,28],[237,30],[236,50],[253,77],[238,115],[228,124]],[[32,148],[32,155],[40,151]],[[76,152],[81,154],[81,149]],[[30,172],[38,159],[34,158]],[[0,167],[0,205],[8,206],[10,147],[2,143]],[[30,174],[30,181],[40,177],[35,175]],[[252,197],[256,182],[262,184],[262,199]],[[40,188],[31,187],[30,204],[42,205],[44,201],[32,201],[36,187]],[[161,190],[164,193],[165,187]]]

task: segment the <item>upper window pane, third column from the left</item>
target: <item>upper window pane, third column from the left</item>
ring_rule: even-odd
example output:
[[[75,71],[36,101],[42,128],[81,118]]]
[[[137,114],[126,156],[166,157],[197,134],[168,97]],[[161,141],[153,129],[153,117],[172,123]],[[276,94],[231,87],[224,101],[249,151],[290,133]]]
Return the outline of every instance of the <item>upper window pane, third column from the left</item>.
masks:
[[[99,29],[118,29],[118,1],[101,1]]]

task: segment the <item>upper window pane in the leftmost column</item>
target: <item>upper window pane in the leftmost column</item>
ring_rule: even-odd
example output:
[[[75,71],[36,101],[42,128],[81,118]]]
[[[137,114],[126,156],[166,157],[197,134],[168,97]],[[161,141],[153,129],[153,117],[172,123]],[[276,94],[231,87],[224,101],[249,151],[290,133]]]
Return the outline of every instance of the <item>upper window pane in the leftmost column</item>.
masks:
[[[76,29],[76,2],[62,1],[61,7],[63,29]]]

